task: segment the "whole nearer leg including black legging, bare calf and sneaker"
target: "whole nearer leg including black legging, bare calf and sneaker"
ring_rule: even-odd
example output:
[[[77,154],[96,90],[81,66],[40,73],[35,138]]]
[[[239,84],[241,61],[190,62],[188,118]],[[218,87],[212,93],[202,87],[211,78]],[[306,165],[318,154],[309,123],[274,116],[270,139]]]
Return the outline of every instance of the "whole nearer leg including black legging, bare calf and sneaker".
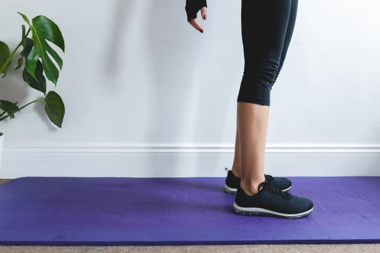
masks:
[[[297,219],[314,208],[264,178],[270,91],[280,66],[292,0],[242,0],[242,37],[246,60],[237,105],[241,182],[233,211],[247,216]],[[265,180],[265,181],[264,181]]]

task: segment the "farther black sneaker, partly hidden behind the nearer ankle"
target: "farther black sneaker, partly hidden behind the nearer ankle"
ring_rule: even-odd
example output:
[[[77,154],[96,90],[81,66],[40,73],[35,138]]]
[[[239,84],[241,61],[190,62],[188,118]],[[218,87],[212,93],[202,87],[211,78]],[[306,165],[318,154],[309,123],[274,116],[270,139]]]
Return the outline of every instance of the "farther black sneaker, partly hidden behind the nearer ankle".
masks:
[[[235,176],[232,171],[226,168],[227,177],[224,191],[230,194],[236,194],[236,189],[240,186],[240,177]],[[292,188],[292,182],[285,177],[273,177],[271,175],[264,175],[265,180],[271,180],[272,185],[278,189],[287,192]]]

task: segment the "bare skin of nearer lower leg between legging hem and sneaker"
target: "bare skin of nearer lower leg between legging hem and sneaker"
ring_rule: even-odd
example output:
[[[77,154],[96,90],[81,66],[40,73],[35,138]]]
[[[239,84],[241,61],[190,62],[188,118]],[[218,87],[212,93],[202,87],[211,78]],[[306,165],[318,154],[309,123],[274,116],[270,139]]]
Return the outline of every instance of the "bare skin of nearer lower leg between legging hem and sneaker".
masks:
[[[247,195],[256,194],[259,184],[265,181],[264,156],[268,119],[269,106],[237,103],[242,178],[240,186]]]

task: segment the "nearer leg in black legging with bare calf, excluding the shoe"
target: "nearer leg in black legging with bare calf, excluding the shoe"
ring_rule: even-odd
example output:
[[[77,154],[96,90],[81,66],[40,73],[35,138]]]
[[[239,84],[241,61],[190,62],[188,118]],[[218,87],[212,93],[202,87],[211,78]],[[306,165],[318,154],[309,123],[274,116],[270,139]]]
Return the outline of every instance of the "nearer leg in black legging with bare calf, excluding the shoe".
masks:
[[[242,0],[245,68],[237,105],[241,188],[258,191],[264,154],[270,90],[280,65],[292,0]]]

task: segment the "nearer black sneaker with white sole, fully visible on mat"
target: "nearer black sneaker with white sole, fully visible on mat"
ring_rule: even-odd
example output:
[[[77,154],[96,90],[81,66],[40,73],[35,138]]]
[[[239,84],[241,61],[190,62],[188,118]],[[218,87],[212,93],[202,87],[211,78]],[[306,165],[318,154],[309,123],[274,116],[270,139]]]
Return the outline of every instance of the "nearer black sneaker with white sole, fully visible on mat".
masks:
[[[245,216],[270,216],[284,219],[297,219],[313,211],[310,199],[293,196],[274,187],[270,180],[259,185],[259,192],[248,196],[239,186],[233,203],[233,211]]]

